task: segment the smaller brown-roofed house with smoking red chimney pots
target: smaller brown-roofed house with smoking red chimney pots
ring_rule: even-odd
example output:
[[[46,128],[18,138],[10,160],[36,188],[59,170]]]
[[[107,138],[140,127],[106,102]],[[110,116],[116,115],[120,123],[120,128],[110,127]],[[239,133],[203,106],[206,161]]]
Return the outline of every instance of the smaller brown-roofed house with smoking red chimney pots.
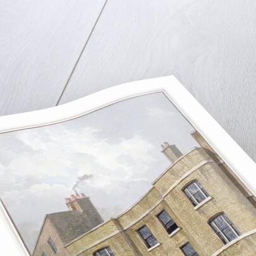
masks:
[[[70,255],[65,245],[104,222],[84,193],[66,198],[66,205],[68,211],[46,215],[33,255]]]

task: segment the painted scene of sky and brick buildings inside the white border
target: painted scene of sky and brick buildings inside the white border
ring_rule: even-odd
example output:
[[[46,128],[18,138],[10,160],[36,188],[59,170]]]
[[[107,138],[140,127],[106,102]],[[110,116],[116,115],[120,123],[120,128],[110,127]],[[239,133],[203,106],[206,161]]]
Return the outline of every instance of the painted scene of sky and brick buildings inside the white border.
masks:
[[[0,142],[33,256],[256,253],[255,197],[162,93]]]

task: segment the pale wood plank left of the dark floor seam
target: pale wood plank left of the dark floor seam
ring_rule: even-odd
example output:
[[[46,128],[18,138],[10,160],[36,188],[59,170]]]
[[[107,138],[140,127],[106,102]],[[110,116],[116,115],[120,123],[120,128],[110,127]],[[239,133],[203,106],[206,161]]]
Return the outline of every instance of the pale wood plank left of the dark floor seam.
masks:
[[[1,115],[55,106],[104,2],[2,1]]]

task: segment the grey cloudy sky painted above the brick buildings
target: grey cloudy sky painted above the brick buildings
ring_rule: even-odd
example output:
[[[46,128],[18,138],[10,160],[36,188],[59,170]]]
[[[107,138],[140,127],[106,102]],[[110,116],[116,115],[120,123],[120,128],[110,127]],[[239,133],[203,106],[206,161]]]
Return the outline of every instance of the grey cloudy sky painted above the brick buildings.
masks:
[[[1,199],[32,251],[45,215],[68,210],[64,198],[73,186],[104,219],[115,217],[170,165],[161,143],[185,153],[198,145],[191,131],[157,93],[57,125],[1,134]]]

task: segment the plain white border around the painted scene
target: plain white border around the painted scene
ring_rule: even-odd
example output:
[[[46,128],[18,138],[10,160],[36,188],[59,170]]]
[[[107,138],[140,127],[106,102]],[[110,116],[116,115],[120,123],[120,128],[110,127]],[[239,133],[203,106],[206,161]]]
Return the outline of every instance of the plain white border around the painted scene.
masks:
[[[0,117],[0,133],[52,125],[78,118],[97,109],[140,95],[162,92],[176,106],[217,154],[256,195],[256,164],[210,116],[204,107],[174,76],[125,83],[88,95],[82,99],[39,111]],[[164,124],[163,124],[164,125]],[[30,255],[8,213],[0,204],[1,247],[8,255]]]

